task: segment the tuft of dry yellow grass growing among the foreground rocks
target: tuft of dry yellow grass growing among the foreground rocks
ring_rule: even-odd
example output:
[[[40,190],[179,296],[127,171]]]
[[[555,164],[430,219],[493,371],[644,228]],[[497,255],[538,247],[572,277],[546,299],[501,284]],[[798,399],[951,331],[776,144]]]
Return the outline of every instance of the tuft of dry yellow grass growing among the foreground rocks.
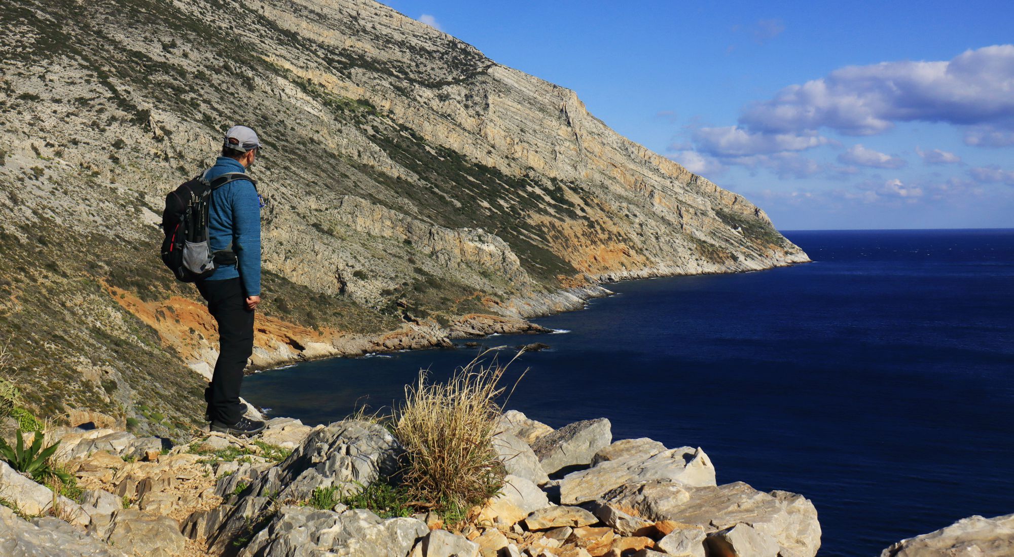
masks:
[[[500,366],[494,356],[485,365],[486,353],[444,384],[427,382],[427,371],[420,371],[393,416],[394,436],[408,451],[403,481],[414,497],[447,510],[480,503],[503,484],[493,433],[502,413],[499,383],[510,363]]]

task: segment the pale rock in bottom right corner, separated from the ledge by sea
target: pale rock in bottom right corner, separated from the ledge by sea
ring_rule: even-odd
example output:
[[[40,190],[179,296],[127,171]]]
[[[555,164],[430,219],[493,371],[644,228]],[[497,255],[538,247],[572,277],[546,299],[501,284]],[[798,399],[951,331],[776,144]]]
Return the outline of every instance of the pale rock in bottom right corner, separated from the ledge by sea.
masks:
[[[1014,514],[994,519],[974,515],[936,532],[888,547],[880,557],[980,557],[1014,555]]]

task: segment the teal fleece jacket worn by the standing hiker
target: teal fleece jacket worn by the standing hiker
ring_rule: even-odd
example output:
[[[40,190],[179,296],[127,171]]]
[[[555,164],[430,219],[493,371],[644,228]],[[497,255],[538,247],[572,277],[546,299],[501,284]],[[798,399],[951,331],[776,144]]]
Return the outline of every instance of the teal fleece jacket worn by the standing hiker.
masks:
[[[226,172],[245,171],[234,159],[218,157],[207,177],[213,180]],[[261,296],[261,201],[254,182],[235,180],[212,192],[208,235],[212,251],[228,249],[231,243],[238,263],[220,266],[206,280],[239,276],[246,296]]]

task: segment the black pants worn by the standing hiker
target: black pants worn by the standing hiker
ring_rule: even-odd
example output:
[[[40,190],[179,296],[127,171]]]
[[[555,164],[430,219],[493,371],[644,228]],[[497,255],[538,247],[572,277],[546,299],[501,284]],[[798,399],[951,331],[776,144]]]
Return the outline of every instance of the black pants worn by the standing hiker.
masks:
[[[238,277],[196,284],[218,322],[218,361],[204,398],[211,419],[231,425],[242,417],[239,386],[246,360],[254,352],[254,312],[246,309],[246,296]]]

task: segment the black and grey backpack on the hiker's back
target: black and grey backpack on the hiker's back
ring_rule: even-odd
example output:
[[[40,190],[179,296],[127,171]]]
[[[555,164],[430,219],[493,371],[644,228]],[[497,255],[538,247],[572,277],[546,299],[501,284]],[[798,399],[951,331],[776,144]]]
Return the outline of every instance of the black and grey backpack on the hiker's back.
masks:
[[[231,250],[211,251],[208,237],[211,192],[235,180],[254,180],[242,172],[227,172],[214,180],[208,180],[207,174],[205,170],[165,196],[162,262],[184,283],[210,276],[216,266],[236,263],[236,254]],[[254,183],[256,186],[257,182]]]

